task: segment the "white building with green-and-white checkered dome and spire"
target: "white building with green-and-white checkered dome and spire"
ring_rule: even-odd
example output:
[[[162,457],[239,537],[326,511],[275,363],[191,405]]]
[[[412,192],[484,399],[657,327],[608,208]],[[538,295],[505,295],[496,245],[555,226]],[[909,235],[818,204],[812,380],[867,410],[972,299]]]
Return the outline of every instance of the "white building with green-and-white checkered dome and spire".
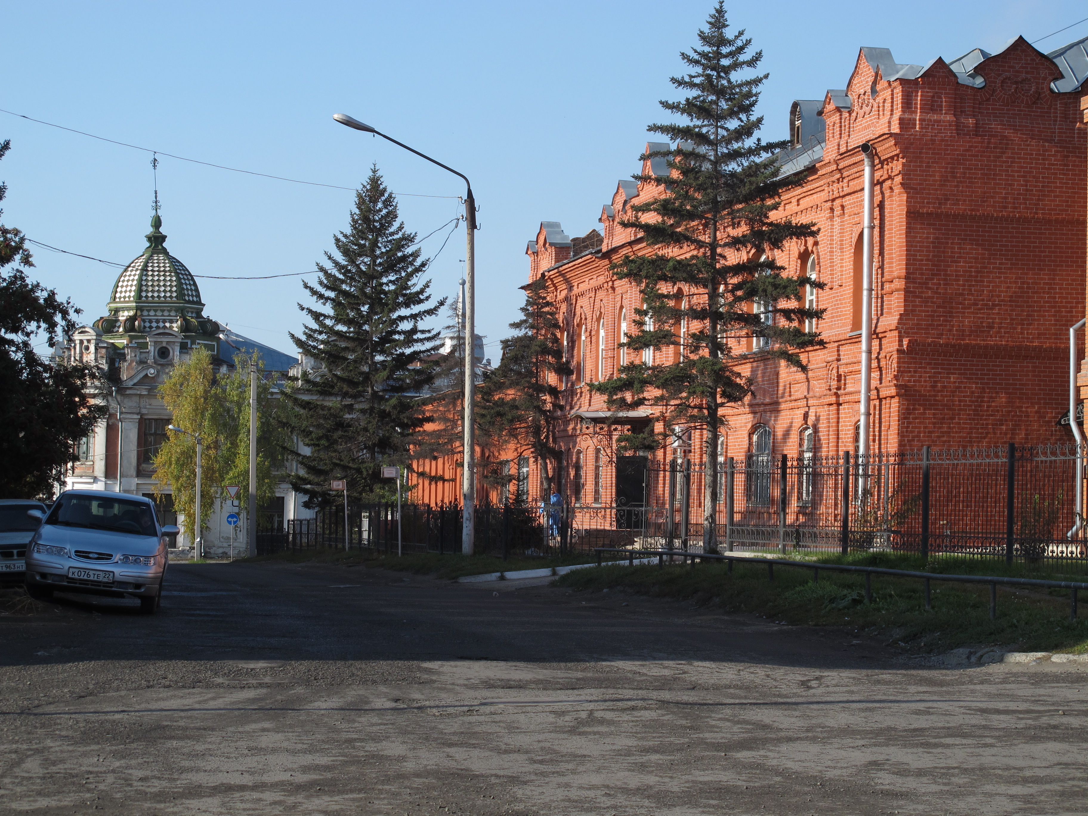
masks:
[[[159,386],[173,364],[187,359],[193,349],[207,348],[213,364],[224,372],[233,369],[235,354],[254,350],[260,353],[267,371],[286,372],[297,362],[205,317],[200,288],[185,264],[166,250],[161,226],[156,213],[147,248],[118,276],[108,314],[77,329],[57,349],[58,356],[71,361],[96,363],[109,383],[109,392],[99,396],[109,406],[109,416],[79,445],[79,460],[70,470],[66,489],[153,494],[158,484],[154,456],[171,422]],[[232,542],[226,516],[235,508],[217,496],[206,496],[206,500],[212,502],[214,514],[205,531],[205,553],[226,555]],[[282,530],[288,519],[312,518],[301,502],[288,484],[280,484],[273,503],[262,508],[261,529]],[[170,518],[173,503],[169,496],[161,507]],[[243,516],[234,530],[236,555],[245,549],[244,524]],[[189,542],[181,539],[177,545],[187,548]]]

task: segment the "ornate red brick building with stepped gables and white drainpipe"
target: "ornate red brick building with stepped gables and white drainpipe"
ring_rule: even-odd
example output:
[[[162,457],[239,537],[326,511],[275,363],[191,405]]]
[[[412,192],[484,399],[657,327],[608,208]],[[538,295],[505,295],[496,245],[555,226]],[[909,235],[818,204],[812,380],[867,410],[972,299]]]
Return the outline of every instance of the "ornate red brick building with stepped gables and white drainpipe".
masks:
[[[759,339],[737,349],[754,393],[725,411],[726,456],[854,449],[866,141],[876,151],[873,453],[1067,438],[1055,421],[1067,405],[1067,331],[1085,314],[1085,44],[1048,55],[1017,38],[997,54],[926,66],[863,48],[845,89],[794,102],[782,163],[812,175],[780,212],[815,222],[819,236],[777,260],[826,284],[806,298],[826,309],[817,330],[827,345],[803,354],[807,372],[770,359]],[[599,233],[572,239],[543,222],[527,250],[530,280],[544,275],[559,304],[574,363],[565,450],[568,498],[581,504],[615,500],[611,440],[622,430],[602,423],[604,399],[588,383],[642,354],[617,348],[640,302],[608,268],[651,250],[619,221],[662,193],[620,181]],[[697,460],[698,430],[691,435]],[[528,465],[523,490],[535,496]]]

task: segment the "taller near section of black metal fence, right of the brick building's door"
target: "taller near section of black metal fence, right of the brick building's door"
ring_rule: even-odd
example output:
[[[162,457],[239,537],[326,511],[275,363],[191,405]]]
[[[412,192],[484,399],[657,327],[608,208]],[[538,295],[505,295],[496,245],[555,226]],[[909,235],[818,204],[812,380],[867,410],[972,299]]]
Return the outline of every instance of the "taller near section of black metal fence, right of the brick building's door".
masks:
[[[923,448],[864,461],[753,454],[718,469],[714,539],[726,552],[886,551],[1086,565],[1088,542],[1075,523],[1084,490],[1077,463],[1075,446]],[[690,460],[650,463],[646,481],[646,546],[701,549],[705,469]]]

